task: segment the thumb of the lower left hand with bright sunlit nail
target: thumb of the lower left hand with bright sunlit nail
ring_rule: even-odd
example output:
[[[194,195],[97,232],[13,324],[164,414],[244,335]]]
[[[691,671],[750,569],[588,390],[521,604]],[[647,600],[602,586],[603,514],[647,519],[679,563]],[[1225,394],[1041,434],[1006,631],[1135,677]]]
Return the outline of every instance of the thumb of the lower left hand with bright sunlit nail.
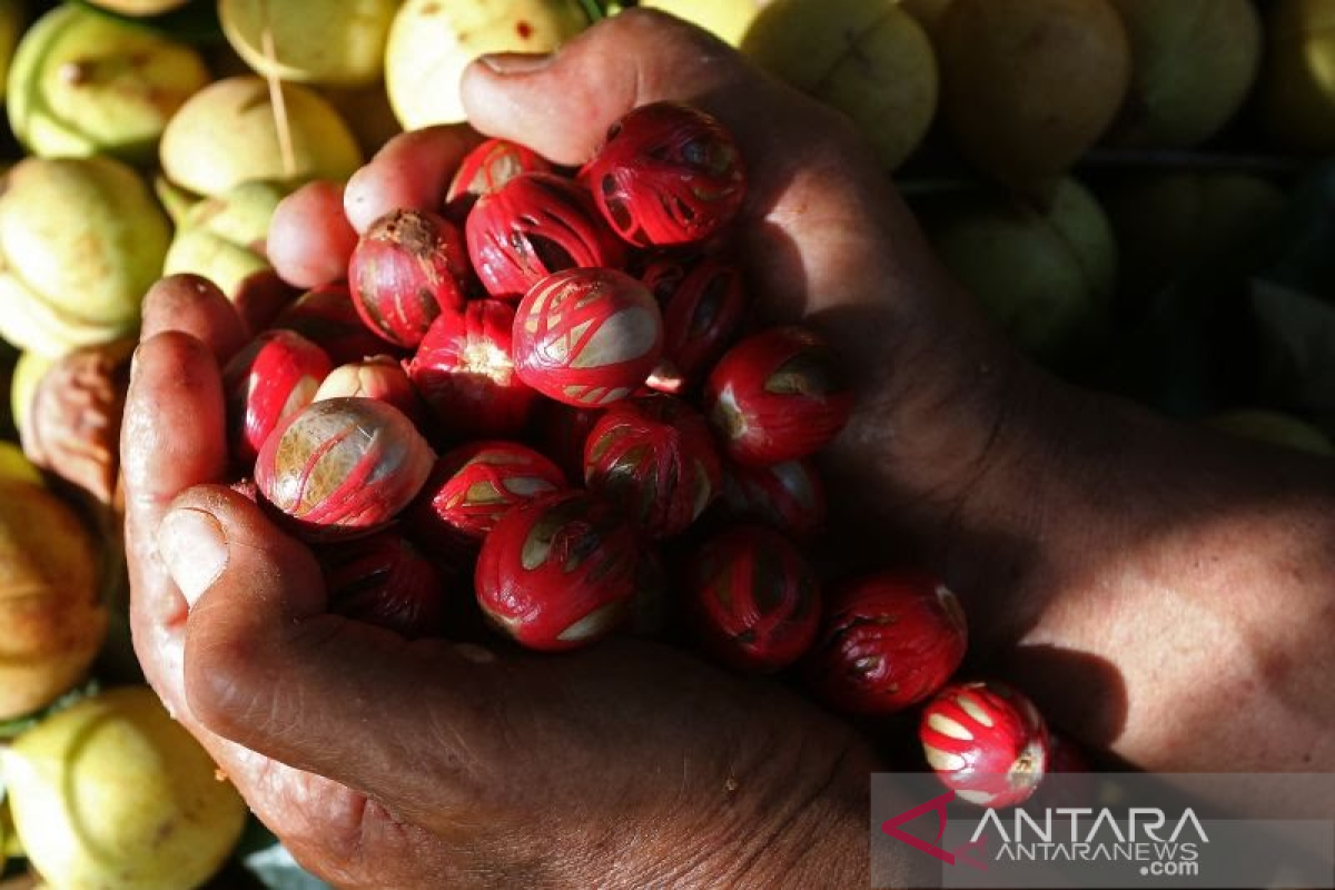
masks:
[[[190,603],[186,702],[206,729],[407,811],[423,773],[467,778],[453,774],[487,749],[494,659],[326,612],[311,551],[244,496],[188,490],[158,547]]]

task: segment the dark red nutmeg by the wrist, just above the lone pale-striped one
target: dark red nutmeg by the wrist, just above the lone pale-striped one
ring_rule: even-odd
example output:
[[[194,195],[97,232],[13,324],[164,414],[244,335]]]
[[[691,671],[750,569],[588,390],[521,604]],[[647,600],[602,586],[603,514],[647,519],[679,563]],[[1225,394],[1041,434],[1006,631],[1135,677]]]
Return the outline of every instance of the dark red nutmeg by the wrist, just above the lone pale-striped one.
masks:
[[[964,610],[921,571],[882,571],[826,600],[808,659],[817,697],[850,714],[892,714],[945,686],[964,660]]]

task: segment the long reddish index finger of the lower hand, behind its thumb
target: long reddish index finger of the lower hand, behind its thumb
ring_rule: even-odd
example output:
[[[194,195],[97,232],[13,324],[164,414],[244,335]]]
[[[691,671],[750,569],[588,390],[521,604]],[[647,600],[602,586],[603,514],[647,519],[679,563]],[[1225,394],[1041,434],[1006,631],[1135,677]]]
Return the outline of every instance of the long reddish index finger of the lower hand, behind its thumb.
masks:
[[[222,382],[212,352],[179,331],[150,336],[131,370],[120,466],[135,650],[164,698],[171,697],[172,662],[179,662],[186,603],[158,556],[154,531],[176,495],[223,478],[224,442]]]

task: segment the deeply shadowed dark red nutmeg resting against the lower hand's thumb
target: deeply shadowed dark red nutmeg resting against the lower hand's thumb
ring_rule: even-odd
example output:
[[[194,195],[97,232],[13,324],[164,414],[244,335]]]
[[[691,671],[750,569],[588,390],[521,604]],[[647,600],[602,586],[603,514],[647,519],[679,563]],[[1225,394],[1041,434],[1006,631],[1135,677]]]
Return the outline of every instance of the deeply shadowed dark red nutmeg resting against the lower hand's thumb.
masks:
[[[383,531],[315,554],[328,590],[328,610],[392,630],[409,639],[438,636],[445,626],[445,586],[426,556]]]

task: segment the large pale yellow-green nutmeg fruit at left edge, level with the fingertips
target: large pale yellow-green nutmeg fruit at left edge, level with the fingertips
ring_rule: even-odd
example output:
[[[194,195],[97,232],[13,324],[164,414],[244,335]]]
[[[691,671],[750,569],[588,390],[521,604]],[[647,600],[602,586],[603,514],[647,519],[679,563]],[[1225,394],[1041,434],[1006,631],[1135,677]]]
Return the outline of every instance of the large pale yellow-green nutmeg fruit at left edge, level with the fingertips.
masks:
[[[111,157],[28,157],[0,193],[0,336],[57,356],[124,336],[162,274],[170,231]]]

